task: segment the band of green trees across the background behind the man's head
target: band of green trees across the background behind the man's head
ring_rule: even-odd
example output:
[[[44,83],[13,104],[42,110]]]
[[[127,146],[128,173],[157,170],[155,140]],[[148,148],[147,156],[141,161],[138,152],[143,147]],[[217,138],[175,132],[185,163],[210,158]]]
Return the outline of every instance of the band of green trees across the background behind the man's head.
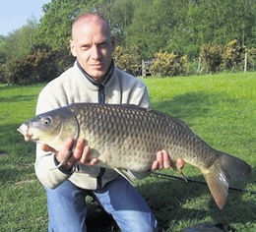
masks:
[[[127,53],[125,56],[122,53],[124,59],[120,62],[116,59],[116,63],[133,74],[141,62],[137,63],[137,55],[134,62],[125,59],[138,54],[144,60],[152,60],[160,50],[178,57],[186,55],[190,63],[201,56],[210,73],[241,70],[242,52],[252,51],[248,52],[248,67],[255,69],[255,0],[51,0],[42,10],[44,15],[39,23],[31,18],[21,29],[7,36],[0,35],[1,70],[11,67],[12,60],[18,66],[28,62],[21,60],[28,59],[35,44],[46,44],[53,51],[68,50],[72,22],[88,11],[99,12],[109,21],[117,44]],[[239,44],[228,44],[235,40]],[[222,47],[226,47],[224,51]],[[58,59],[64,61],[65,55]],[[185,73],[185,70],[181,72]],[[1,73],[0,80],[4,79]]]

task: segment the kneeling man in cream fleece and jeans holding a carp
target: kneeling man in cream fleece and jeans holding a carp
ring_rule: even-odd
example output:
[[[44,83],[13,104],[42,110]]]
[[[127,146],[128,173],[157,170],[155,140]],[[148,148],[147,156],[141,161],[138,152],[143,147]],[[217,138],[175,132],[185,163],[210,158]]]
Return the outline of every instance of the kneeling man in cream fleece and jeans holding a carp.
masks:
[[[70,45],[77,61],[74,67],[42,89],[36,114],[75,102],[149,107],[147,88],[114,66],[115,39],[104,18],[94,13],[80,16],[73,24]],[[91,191],[122,231],[156,231],[155,216],[130,183],[114,170],[94,166],[96,159],[88,161],[90,146],[85,140],[79,140],[66,164],[56,168],[72,150],[73,143],[69,139],[60,150],[47,145],[36,147],[35,172],[46,191],[48,230],[87,231],[85,197]],[[183,165],[183,160],[180,160],[180,166]],[[168,154],[160,150],[152,170],[169,167]],[[149,175],[132,174],[136,178]]]

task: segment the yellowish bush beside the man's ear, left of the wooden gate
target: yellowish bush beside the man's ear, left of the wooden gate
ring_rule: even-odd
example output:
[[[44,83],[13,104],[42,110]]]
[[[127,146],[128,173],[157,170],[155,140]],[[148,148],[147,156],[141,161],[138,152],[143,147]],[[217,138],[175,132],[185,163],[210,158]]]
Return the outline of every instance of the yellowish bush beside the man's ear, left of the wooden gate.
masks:
[[[125,50],[121,46],[115,48],[113,54],[115,65],[127,73],[137,76],[141,68],[141,56],[137,49]]]

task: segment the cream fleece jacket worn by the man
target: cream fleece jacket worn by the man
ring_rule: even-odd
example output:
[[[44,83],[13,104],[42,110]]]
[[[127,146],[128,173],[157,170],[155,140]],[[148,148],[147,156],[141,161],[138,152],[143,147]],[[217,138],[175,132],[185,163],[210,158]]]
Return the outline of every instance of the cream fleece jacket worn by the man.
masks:
[[[136,104],[149,107],[147,87],[137,78],[113,68],[111,77],[104,86],[105,103]],[[76,102],[98,102],[98,86],[90,82],[78,64],[68,69],[61,76],[51,81],[39,93],[36,114]],[[122,155],[122,154],[120,154]],[[63,181],[69,179],[76,186],[83,189],[96,190],[100,168],[96,166],[80,165],[79,169],[64,172],[56,167],[54,154],[45,152],[36,146],[36,160],[34,169],[41,184],[54,189]],[[134,173],[136,178],[144,178],[147,173]],[[112,169],[106,169],[101,177],[101,187],[117,177]]]

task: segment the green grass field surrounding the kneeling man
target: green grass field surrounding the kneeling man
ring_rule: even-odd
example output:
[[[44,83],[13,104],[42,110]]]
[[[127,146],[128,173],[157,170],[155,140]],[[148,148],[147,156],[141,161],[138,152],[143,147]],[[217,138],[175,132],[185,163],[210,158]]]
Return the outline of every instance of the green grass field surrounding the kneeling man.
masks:
[[[256,73],[215,76],[143,79],[152,107],[185,121],[210,145],[238,156],[254,172],[232,186],[256,191]],[[25,143],[16,131],[34,114],[42,85],[0,86],[0,231],[46,231],[46,201],[33,170],[34,144]],[[172,170],[164,173],[175,175]],[[201,173],[186,165],[188,178],[203,180]],[[255,194],[229,191],[223,210],[218,209],[205,185],[152,176],[138,181],[138,191],[152,207],[160,231],[180,231],[200,223],[225,223],[235,231],[256,231]],[[116,231],[100,211],[91,221],[105,223],[105,231]],[[91,226],[92,227],[92,226]],[[92,229],[92,231],[103,231]]]

